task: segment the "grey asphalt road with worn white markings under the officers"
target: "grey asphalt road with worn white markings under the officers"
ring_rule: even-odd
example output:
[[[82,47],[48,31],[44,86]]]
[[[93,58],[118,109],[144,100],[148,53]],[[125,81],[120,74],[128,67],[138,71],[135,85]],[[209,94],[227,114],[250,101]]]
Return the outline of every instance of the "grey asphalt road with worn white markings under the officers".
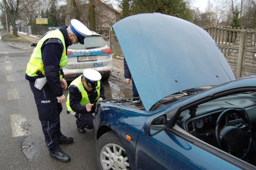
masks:
[[[30,43],[0,41],[0,169],[96,169],[93,130],[80,134],[75,117],[66,114],[62,104],[61,130],[74,142],[60,147],[71,161],[62,163],[49,156],[33,94],[24,78],[32,49]],[[104,82],[107,98],[131,97],[131,86],[124,84],[122,61],[114,59],[113,74]],[[67,90],[64,95],[67,97]]]

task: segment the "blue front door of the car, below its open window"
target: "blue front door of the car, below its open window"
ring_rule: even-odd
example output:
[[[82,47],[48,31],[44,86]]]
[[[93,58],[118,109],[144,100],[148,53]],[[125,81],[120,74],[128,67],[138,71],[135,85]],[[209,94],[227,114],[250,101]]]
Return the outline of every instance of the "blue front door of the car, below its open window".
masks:
[[[154,136],[142,130],[136,144],[136,169],[246,169],[245,162],[207,146],[182,130],[175,125]]]

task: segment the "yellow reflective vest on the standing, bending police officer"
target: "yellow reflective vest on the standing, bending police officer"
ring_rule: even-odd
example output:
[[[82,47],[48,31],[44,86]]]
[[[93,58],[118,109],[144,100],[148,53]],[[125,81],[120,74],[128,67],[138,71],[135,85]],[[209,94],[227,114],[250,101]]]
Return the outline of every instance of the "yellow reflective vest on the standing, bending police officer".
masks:
[[[65,46],[64,36],[63,36],[62,32],[60,32],[60,30],[54,30],[54,31],[46,34],[44,37],[42,37],[39,40],[38,44],[36,45],[32,55],[31,55],[31,58],[27,64],[26,74],[28,76],[30,76],[30,77],[38,76],[36,74],[37,71],[41,71],[42,74],[44,75],[44,69],[43,69],[44,64],[42,61],[41,47],[42,47],[44,41],[49,38],[58,38],[62,41],[64,49],[63,49],[62,56],[60,59],[60,69],[65,67],[65,65],[68,63],[68,56],[66,55],[66,46]],[[60,74],[60,79],[62,79],[61,74]]]

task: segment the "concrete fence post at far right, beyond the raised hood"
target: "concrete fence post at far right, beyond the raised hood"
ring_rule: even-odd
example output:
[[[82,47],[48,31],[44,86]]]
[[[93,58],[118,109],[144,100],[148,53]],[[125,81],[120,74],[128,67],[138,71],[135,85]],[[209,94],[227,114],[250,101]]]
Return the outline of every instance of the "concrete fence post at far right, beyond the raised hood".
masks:
[[[244,63],[244,46],[246,39],[246,30],[241,30],[240,32],[240,40],[239,40],[239,50],[237,57],[237,69],[236,69],[236,77],[242,77],[243,63]]]

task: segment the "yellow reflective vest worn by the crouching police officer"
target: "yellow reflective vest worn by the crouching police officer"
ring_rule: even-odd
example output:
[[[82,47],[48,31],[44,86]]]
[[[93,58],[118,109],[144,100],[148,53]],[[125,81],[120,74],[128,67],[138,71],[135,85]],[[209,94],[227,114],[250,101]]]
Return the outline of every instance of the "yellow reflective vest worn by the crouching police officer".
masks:
[[[80,101],[80,105],[86,106],[87,103],[90,103],[90,100],[88,98],[88,94],[87,94],[86,90],[84,89],[84,85],[81,81],[82,76],[83,75],[80,75],[79,77],[74,79],[74,81],[72,81],[70,83],[68,89],[70,88],[71,85],[75,85],[79,89],[79,91],[82,95],[82,100]],[[96,91],[97,91],[98,94],[97,94],[97,97],[96,97],[95,101],[98,100],[98,98],[100,97],[100,80],[98,81],[98,85],[96,86]],[[69,93],[68,93],[68,98],[67,98],[66,105],[67,105],[68,111],[76,113],[71,109],[71,107],[69,105]]]

